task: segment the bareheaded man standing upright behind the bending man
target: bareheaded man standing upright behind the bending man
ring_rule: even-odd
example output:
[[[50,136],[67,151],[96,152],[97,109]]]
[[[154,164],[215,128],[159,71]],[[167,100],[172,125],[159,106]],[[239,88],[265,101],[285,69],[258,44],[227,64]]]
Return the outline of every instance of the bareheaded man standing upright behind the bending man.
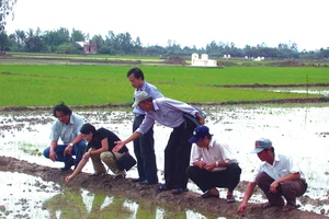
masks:
[[[144,80],[144,73],[139,68],[132,68],[127,72],[127,78],[131,84],[135,88],[135,95],[138,91],[146,91],[152,99],[163,97],[160,91],[152,84]],[[133,132],[140,126],[145,118],[145,111],[138,105],[133,110],[135,115],[133,123]],[[144,185],[151,185],[158,183],[158,168],[155,152],[154,127],[151,126],[148,131],[141,135],[138,139],[134,140],[134,152],[137,159],[138,178],[133,182]]]

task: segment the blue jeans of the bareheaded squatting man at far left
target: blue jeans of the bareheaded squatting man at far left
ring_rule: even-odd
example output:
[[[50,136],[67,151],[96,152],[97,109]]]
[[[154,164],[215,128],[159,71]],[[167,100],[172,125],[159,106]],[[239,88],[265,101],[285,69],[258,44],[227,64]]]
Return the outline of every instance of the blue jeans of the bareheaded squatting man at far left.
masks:
[[[81,161],[81,159],[82,159],[82,157],[86,152],[86,141],[81,140],[80,142],[75,145],[73,148],[72,148],[71,154],[64,157],[64,150],[66,149],[67,146],[68,145],[58,145],[56,147],[56,149],[55,149],[55,152],[57,154],[56,161],[66,163],[69,160],[73,159],[72,155],[76,155],[75,165],[78,165],[78,163]],[[46,148],[44,150],[44,157],[49,158],[49,151],[50,151],[50,147]]]

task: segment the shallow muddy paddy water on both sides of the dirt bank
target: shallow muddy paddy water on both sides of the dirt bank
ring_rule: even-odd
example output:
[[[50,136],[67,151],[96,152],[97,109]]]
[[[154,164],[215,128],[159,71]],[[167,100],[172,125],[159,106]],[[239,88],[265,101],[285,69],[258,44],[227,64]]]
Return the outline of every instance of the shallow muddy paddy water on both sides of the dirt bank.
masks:
[[[293,153],[298,160],[302,169],[308,176],[309,189],[305,195],[314,200],[328,199],[329,184],[329,106],[318,105],[303,107],[217,107],[209,106],[204,108],[207,113],[206,124],[217,138],[228,142],[235,148],[240,166],[242,168],[241,181],[248,181],[252,170],[258,162],[254,154],[249,151],[253,148],[253,142],[260,137],[270,138],[273,141],[275,151]],[[95,127],[105,127],[116,132],[122,139],[128,137],[132,131],[133,115],[129,110],[122,111],[78,111],[76,112],[86,117],[88,123]],[[44,159],[41,153],[49,143],[50,126],[55,118],[52,112],[11,112],[0,113],[0,155],[15,157],[42,165],[58,166],[61,163],[54,163]],[[163,126],[155,126],[156,154],[159,169],[160,182],[163,182],[163,149],[166,147],[171,129]],[[133,146],[128,148],[133,151]],[[321,166],[321,168],[318,168]],[[92,173],[92,165],[88,163],[83,170]],[[128,172],[128,177],[137,175],[136,169]],[[64,200],[66,188],[38,178],[15,173],[0,172],[1,189],[0,193],[0,217],[2,218],[59,218],[64,217],[69,210],[60,210],[56,205],[60,205],[57,198]],[[43,189],[39,189],[43,187]],[[201,193],[194,184],[189,184],[189,188]],[[4,193],[5,191],[5,193]],[[71,193],[71,192],[70,192]],[[91,214],[93,201],[99,200],[99,205],[113,207],[116,197],[101,197],[98,194],[89,194],[87,191],[79,191],[82,201],[75,200],[80,211]],[[33,195],[31,195],[33,194]],[[226,191],[220,191],[225,196]],[[236,191],[238,200],[241,200],[243,191]],[[104,199],[102,201],[102,198]],[[52,201],[52,200],[56,201]],[[252,201],[263,201],[261,196],[254,196]],[[298,200],[299,201],[299,200]],[[50,207],[54,203],[55,207]],[[102,203],[102,204],[100,204]],[[114,204],[113,204],[114,203]],[[118,201],[120,203],[120,201]],[[302,209],[315,212],[325,211],[328,216],[328,206],[302,205]],[[127,211],[125,218],[136,218],[138,210],[137,203],[134,200],[121,200],[118,207],[122,212]],[[57,210],[58,209],[58,210]],[[143,210],[141,210],[143,211]],[[164,214],[166,212],[166,214]],[[109,214],[109,211],[107,211]],[[152,218],[167,218],[164,215],[178,214],[166,211],[162,208],[151,210]],[[182,211],[182,218],[205,218],[198,212]],[[68,217],[64,217],[68,218]],[[93,217],[89,217],[93,218]]]

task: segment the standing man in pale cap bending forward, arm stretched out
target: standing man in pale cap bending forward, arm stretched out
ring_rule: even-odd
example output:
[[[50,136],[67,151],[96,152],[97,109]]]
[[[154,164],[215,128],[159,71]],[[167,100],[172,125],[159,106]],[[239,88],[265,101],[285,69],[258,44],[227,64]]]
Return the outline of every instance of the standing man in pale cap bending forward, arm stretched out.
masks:
[[[173,128],[164,149],[164,184],[158,185],[158,191],[172,189],[172,194],[186,192],[188,176],[185,170],[190,164],[191,146],[189,139],[196,125],[184,119],[184,114],[197,117],[201,124],[204,118],[191,105],[172,99],[152,99],[147,92],[138,91],[133,107],[139,106],[146,112],[141,125],[124,141],[117,142],[113,151],[118,151],[124,145],[139,138],[148,131],[157,120],[159,124]]]

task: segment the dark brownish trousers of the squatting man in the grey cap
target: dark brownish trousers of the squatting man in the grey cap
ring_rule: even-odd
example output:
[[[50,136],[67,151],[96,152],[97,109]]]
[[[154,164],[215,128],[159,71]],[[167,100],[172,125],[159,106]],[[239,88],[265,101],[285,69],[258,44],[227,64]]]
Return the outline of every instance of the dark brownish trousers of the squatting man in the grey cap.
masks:
[[[265,172],[260,173],[256,178],[257,185],[263,191],[270,204],[283,203],[282,196],[288,205],[296,205],[296,197],[302,196],[307,189],[307,183],[299,178],[280,183],[276,193],[270,193],[270,185],[274,180]]]

